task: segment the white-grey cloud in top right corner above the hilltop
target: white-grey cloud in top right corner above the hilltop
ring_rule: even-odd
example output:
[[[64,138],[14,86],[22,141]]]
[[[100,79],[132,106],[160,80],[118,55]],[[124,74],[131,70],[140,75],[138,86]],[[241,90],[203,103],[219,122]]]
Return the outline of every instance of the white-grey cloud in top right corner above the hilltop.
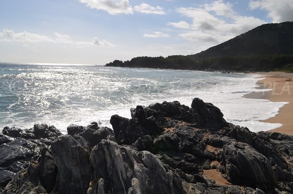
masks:
[[[249,6],[268,11],[272,22],[293,21],[293,0],[250,0]]]

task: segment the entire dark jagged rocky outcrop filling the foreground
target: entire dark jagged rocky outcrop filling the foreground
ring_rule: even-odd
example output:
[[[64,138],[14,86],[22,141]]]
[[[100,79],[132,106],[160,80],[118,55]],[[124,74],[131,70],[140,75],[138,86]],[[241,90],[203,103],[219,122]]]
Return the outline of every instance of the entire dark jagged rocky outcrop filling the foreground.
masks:
[[[293,193],[293,136],[234,126],[198,98],[191,108],[175,101],[130,111],[131,119],[111,117],[113,131],[96,122],[70,125],[68,135],[4,128],[3,193]]]

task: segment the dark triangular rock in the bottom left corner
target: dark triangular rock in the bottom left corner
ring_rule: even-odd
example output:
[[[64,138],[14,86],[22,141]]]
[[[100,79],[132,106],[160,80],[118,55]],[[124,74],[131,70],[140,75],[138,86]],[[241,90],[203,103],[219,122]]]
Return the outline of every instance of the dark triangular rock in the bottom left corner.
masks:
[[[47,194],[39,178],[39,165],[32,161],[27,169],[18,172],[2,194]]]

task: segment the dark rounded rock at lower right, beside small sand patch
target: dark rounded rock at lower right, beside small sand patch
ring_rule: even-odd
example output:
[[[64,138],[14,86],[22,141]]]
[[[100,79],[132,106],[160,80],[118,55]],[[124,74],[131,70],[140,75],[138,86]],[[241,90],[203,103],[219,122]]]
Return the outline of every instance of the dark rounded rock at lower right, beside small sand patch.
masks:
[[[222,158],[231,183],[255,185],[265,190],[277,184],[270,161],[246,143],[224,146]]]

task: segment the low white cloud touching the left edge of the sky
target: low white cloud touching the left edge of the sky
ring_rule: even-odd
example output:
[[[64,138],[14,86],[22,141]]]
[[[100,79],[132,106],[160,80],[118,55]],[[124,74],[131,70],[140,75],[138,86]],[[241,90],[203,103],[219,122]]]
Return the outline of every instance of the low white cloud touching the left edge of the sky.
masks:
[[[24,42],[24,43],[55,43],[55,41],[47,36],[30,33],[30,32],[20,32],[14,33],[13,30],[3,29],[0,32],[0,41],[7,42]]]

